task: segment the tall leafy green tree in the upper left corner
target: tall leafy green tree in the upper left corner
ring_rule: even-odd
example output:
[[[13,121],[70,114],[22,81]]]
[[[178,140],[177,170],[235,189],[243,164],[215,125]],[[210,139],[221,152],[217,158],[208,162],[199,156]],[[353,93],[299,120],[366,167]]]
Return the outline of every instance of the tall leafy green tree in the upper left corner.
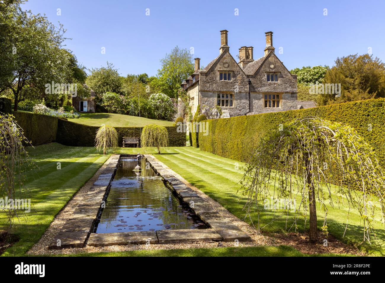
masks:
[[[62,49],[64,28],[44,15],[20,8],[23,1],[0,3],[0,93],[10,90],[18,103],[42,95],[45,84],[68,83],[70,56]]]

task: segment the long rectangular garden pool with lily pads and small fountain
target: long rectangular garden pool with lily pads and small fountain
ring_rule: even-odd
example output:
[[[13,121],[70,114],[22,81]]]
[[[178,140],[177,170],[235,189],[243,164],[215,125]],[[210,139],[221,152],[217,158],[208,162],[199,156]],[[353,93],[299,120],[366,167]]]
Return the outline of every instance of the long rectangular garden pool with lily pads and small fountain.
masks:
[[[139,164],[138,164],[139,163]],[[140,171],[134,171],[141,166]],[[105,208],[95,233],[206,229],[207,226],[180,201],[146,159],[121,157]]]

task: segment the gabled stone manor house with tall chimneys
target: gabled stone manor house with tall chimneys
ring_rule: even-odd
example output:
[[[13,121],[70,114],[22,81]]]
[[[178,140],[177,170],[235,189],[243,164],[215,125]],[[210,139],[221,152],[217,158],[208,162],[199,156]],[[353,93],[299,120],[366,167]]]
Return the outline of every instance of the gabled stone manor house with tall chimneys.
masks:
[[[191,112],[220,106],[222,117],[253,115],[315,107],[297,100],[297,76],[290,74],[273,47],[273,32],[266,32],[264,55],[254,60],[253,47],[239,48],[239,62],[229,52],[227,30],[221,30],[219,56],[203,70],[195,58],[195,71],[181,84],[190,97]]]

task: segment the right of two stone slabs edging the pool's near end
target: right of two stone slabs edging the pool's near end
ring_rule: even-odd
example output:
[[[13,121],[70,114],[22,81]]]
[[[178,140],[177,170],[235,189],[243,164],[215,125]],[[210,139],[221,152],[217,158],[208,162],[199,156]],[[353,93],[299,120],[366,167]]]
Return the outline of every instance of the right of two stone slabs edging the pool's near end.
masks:
[[[222,240],[214,229],[158,230],[156,235],[160,244]]]

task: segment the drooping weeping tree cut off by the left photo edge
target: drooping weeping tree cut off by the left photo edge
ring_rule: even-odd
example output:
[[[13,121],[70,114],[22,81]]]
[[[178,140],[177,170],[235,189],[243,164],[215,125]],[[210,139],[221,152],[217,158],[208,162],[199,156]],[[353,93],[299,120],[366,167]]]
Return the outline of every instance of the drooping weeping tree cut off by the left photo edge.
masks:
[[[5,211],[11,225],[19,217],[15,199],[26,198],[25,171],[35,166],[24,148],[31,144],[13,119],[0,113],[0,198],[13,200],[13,204],[4,201],[0,210]]]

